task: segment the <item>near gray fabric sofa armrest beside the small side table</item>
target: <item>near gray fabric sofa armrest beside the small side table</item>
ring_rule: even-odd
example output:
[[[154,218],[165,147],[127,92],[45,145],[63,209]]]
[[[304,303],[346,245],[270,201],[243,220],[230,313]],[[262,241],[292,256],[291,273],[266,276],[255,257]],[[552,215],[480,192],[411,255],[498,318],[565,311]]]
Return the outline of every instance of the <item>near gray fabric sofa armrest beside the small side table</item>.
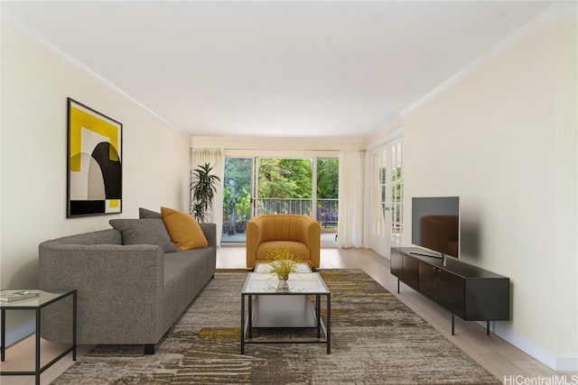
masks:
[[[79,344],[154,344],[162,336],[163,255],[147,244],[41,243],[39,288],[77,289]],[[50,308],[42,336],[66,342],[70,325],[59,313],[67,309]]]

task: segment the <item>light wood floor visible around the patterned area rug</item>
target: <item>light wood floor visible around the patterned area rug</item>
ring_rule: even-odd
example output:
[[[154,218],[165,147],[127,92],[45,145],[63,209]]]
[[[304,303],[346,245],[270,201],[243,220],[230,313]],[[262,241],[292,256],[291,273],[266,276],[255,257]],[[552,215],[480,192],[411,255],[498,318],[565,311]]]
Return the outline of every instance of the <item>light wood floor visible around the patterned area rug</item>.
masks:
[[[365,249],[335,249],[323,248],[321,257],[322,269],[362,269],[374,280],[377,280],[384,288],[394,293],[415,313],[433,325],[440,333],[445,335],[453,344],[467,353],[473,360],[480,363],[499,380],[506,383],[538,383],[538,378],[564,379],[565,382],[575,383],[578,377],[576,372],[556,372],[537,362],[527,353],[523,353],[511,344],[508,344],[497,335],[486,335],[486,329],[473,322],[462,321],[455,318],[455,335],[451,334],[451,316],[442,308],[436,306],[430,300],[401,285],[401,293],[397,295],[397,280],[389,273],[389,261],[379,256],[376,252]],[[244,269],[245,248],[244,246],[224,246],[217,252],[218,269]],[[92,346],[80,345],[78,356],[89,352]],[[61,345],[42,341],[42,363],[49,362],[52,357],[61,352]],[[26,338],[19,344],[15,344],[6,350],[6,360],[2,362],[2,371],[29,371],[33,368],[33,336]],[[71,353],[44,371],[41,376],[42,384],[49,384],[72,364]],[[517,377],[521,376],[521,377]],[[535,382],[529,382],[534,380]],[[526,382],[525,382],[526,381]],[[34,378],[23,376],[2,376],[2,385],[33,384]],[[545,382],[544,382],[545,383]],[[558,382],[555,382],[558,383]]]

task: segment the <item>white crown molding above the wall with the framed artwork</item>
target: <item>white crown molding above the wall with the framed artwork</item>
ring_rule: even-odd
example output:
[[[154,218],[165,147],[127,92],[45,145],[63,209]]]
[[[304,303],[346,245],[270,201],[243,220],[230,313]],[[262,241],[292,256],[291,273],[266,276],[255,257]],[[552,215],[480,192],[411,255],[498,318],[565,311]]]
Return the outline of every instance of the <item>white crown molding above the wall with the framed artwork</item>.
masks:
[[[128,95],[125,91],[121,88],[117,87],[114,83],[107,80],[107,78],[103,78],[98,74],[97,71],[90,68],[86,63],[74,58],[71,56],[66,50],[62,50],[61,47],[57,46],[56,44],[47,41],[40,33],[34,31],[28,25],[20,21],[14,14],[10,14],[9,12],[2,10],[2,23],[8,23],[14,27],[14,29],[18,32],[21,32],[24,36],[29,38],[30,40],[34,41],[38,45],[40,45],[44,50],[48,50],[49,52],[55,54],[61,60],[67,61],[73,66],[77,67],[78,69],[86,72],[89,77],[94,78],[98,81],[98,83],[104,85],[105,87],[110,88],[112,91],[116,92],[118,95],[126,98],[129,102],[137,105],[139,108],[143,109],[146,113],[153,115],[155,118],[163,122],[163,124],[167,124],[173,130],[177,131],[178,133],[182,133],[183,135],[190,137],[189,133],[184,132],[182,129],[177,127],[175,124],[172,124],[169,120],[165,119],[163,116],[158,115],[152,109],[143,105],[141,102],[136,100],[133,96]]]

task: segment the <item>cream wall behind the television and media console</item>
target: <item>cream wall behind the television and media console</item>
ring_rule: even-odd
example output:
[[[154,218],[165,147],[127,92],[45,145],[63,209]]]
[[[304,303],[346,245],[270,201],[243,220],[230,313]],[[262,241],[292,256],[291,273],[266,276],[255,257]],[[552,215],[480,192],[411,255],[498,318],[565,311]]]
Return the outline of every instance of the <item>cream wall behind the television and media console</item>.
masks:
[[[461,257],[511,281],[496,333],[574,371],[576,49],[576,22],[552,23],[404,118],[406,207],[460,196]]]

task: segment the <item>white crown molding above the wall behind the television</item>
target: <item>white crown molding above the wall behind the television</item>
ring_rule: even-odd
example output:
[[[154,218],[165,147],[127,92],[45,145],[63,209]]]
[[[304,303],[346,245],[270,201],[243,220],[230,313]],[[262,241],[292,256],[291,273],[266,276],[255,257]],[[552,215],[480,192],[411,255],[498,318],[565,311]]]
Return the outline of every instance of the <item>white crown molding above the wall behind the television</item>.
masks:
[[[462,69],[460,72],[453,75],[452,78],[448,78],[440,86],[435,87],[428,94],[415,101],[414,104],[403,109],[400,112],[400,115],[405,116],[411,113],[419,106],[432,100],[435,96],[442,94],[443,91],[452,87],[461,79],[470,76],[473,72],[488,64],[490,60],[498,57],[518,43],[525,41],[528,37],[540,31],[549,23],[553,23],[555,20],[560,19],[576,19],[576,4],[573,2],[563,2],[550,6],[542,14],[538,14],[534,19],[520,27],[516,32],[509,35],[503,41],[500,41],[493,48],[480,56],[480,58],[471,62],[471,64],[465,69]]]

